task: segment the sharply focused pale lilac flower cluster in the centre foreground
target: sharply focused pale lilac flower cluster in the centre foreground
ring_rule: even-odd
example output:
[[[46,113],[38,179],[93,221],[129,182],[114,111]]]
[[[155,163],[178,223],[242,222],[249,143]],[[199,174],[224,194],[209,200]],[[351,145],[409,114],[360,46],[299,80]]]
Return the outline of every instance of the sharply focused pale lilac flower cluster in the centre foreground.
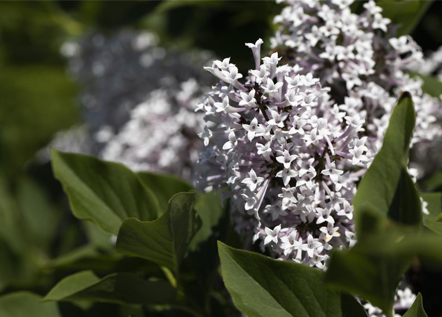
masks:
[[[282,260],[324,268],[329,250],[355,242],[355,181],[372,159],[359,137],[365,121],[299,65],[278,65],[278,53],[261,63],[262,43],[246,44],[255,67],[244,80],[230,58],[205,67],[220,82],[198,106],[206,146],[198,187],[230,186],[223,193],[237,217],[255,218],[237,221],[239,230],[253,226],[254,240]]]

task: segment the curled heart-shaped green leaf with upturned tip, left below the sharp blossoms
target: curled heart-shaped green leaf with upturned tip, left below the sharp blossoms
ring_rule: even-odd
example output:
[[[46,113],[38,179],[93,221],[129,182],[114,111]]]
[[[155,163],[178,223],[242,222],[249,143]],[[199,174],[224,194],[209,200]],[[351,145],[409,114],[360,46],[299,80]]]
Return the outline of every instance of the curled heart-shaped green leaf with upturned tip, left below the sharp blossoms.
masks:
[[[189,244],[201,226],[193,208],[195,191],[179,193],[169,201],[167,211],[154,221],[129,218],[117,237],[116,251],[145,258],[178,272]]]

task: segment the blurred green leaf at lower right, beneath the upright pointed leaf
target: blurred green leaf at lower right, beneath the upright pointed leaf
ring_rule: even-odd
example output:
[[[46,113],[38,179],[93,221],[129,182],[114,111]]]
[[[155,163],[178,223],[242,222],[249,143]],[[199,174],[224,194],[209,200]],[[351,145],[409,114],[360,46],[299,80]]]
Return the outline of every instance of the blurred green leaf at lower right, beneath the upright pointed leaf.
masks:
[[[442,237],[410,227],[386,228],[351,250],[333,253],[326,273],[329,286],[357,294],[391,312],[397,285],[414,257],[442,264]]]

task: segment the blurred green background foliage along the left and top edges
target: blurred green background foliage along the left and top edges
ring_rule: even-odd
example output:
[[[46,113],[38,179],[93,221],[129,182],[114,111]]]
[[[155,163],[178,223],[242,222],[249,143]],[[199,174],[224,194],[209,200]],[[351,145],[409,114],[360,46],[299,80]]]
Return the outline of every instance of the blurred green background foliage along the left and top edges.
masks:
[[[109,237],[71,215],[49,162],[35,158],[54,133],[81,120],[79,87],[60,46],[91,30],[146,29],[162,46],[230,56],[244,72],[252,61],[244,43],[262,38],[265,52],[281,7],[274,0],[0,1],[0,294],[45,294],[85,261],[103,271],[109,265],[97,258]],[[442,45],[440,12],[442,1],[434,1],[412,33],[424,52]]]

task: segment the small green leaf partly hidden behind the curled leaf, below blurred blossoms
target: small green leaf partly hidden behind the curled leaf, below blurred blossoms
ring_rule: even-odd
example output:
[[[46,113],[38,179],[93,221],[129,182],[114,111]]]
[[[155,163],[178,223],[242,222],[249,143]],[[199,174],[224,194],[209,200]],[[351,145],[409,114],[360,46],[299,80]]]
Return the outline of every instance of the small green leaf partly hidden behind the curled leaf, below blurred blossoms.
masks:
[[[173,175],[140,172],[137,176],[157,198],[160,210],[158,215],[167,210],[169,200],[173,195],[193,189],[192,185]]]

